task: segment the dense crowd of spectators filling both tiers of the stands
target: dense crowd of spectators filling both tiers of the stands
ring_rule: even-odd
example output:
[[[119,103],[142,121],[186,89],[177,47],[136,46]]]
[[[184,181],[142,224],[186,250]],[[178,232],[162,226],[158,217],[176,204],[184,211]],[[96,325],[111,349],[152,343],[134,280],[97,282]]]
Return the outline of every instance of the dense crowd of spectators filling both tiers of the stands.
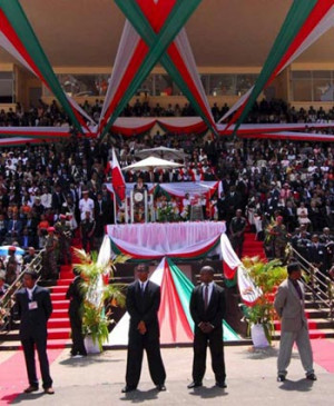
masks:
[[[85,103],[82,108],[92,116],[99,115],[101,102]],[[125,110],[124,115],[144,115],[139,100],[128,109],[131,113]],[[214,106],[213,113],[218,118],[227,109],[227,106],[222,109]],[[323,109],[316,111],[310,107],[308,111],[295,112],[282,101],[262,101],[255,105],[248,119],[312,123],[331,119],[331,110],[323,113]],[[40,101],[28,112],[18,105],[16,112],[0,113],[2,126],[61,126],[66,120],[56,102],[47,106]],[[312,131],[312,127],[308,130]],[[160,146],[181,149],[185,152],[183,168],[126,171],[127,182],[219,181],[217,191],[209,195],[178,199],[157,194],[151,204],[160,212],[173,207],[173,217],[167,220],[189,220],[189,207],[196,202],[203,207],[203,219],[225,220],[227,230],[230,230],[230,221],[239,209],[257,237],[266,239],[269,257],[283,252],[287,241],[305,254],[305,248],[318,238],[325,244],[325,249],[321,247],[320,250],[326,258],[320,261],[307,254],[307,259],[321,264],[323,269],[331,267],[334,147],[304,141],[215,138],[213,135],[156,131],[153,136],[145,133],[129,138],[114,133],[102,140],[73,135],[57,143],[2,148],[0,244],[19,246],[27,251],[29,247],[37,250],[47,247],[45,261],[53,268],[71,260],[69,246],[73,235],[81,238],[85,249],[97,249],[105,226],[126,220],[125,216],[115,218],[114,201],[106,186],[111,181],[107,164],[112,148],[124,167],[134,164],[141,149]],[[166,216],[161,218],[166,220]],[[275,235],[275,222],[284,226],[283,232]],[[46,276],[53,278],[56,274]]]

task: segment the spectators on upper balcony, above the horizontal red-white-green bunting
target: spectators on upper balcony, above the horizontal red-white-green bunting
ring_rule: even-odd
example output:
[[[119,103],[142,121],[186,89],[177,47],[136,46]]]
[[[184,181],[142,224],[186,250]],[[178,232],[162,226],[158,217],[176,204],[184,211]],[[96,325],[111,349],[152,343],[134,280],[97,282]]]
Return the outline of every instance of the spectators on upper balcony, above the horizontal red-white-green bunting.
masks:
[[[94,103],[87,100],[80,105],[85,112],[96,122],[99,121],[102,111],[104,100],[96,99]],[[219,121],[229,110],[229,106],[224,103],[218,106],[214,103],[212,113],[214,120]],[[136,99],[132,105],[127,105],[121,112],[121,117],[193,117],[198,116],[190,103],[179,106],[178,103],[168,103],[166,107],[156,103],[151,106],[149,98]],[[230,117],[228,118],[230,119]],[[323,122],[334,120],[334,108],[324,110],[322,107],[315,109],[310,106],[308,109],[301,107],[295,109],[294,106],[287,105],[282,99],[272,99],[267,101],[263,99],[255,102],[245,122],[249,123],[277,123],[277,122]],[[42,99],[38,106],[31,106],[24,110],[20,103],[17,103],[16,109],[9,108],[8,111],[0,110],[0,127],[22,126],[22,127],[59,127],[69,123],[67,113],[53,100],[47,105]]]

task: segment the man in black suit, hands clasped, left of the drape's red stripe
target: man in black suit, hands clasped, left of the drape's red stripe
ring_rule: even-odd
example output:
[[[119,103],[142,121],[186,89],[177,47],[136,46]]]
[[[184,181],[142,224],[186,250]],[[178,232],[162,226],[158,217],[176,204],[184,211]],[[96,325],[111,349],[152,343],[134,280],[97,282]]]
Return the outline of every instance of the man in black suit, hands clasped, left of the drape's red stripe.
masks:
[[[136,268],[138,280],[130,284],[126,306],[130,315],[126,386],[122,393],[137,388],[144,349],[147,354],[150,377],[158,390],[166,390],[166,372],[160,354],[158,310],[160,287],[148,280],[148,265]]]

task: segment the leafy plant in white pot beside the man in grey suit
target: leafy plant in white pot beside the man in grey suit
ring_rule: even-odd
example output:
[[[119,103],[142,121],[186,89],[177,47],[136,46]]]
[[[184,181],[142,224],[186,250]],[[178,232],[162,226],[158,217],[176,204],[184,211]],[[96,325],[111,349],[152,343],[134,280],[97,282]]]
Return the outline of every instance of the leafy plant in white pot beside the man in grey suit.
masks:
[[[287,276],[286,267],[278,259],[265,263],[259,257],[245,257],[243,264],[262,290],[262,296],[254,306],[240,305],[244,319],[248,323],[254,347],[267,347],[272,344],[274,320],[277,318],[274,296],[276,288]]]

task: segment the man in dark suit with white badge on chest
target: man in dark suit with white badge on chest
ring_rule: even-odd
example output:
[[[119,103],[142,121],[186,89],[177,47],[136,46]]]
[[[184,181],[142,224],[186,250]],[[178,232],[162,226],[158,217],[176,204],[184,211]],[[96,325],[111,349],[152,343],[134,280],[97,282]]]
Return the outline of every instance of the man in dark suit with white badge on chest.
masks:
[[[36,285],[38,274],[26,271],[24,287],[16,294],[16,314],[21,320],[20,339],[23,346],[29,387],[26,394],[38,390],[35,364],[35,346],[37,348],[43,389],[52,395],[52,378],[47,355],[47,323],[52,313],[49,290]]]

